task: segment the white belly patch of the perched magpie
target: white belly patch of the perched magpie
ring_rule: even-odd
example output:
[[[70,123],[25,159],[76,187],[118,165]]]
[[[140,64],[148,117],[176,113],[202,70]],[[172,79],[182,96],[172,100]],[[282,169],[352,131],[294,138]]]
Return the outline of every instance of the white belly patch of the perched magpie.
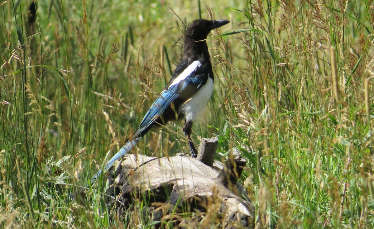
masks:
[[[194,120],[205,109],[206,103],[213,92],[213,80],[209,77],[206,84],[195,95],[181,105],[180,112],[184,114],[186,121]]]

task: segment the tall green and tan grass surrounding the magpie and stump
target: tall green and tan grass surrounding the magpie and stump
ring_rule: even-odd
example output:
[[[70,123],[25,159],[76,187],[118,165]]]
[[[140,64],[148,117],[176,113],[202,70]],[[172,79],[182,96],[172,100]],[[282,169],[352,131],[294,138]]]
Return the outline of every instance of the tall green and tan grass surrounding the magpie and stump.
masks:
[[[69,197],[137,128],[200,16],[231,21],[209,37],[256,29],[208,40],[215,90],[193,133],[248,160],[256,228],[374,227],[372,1],[40,0],[34,23],[30,4],[0,3],[0,228],[151,227],[141,203],[109,214],[104,179]],[[182,125],[132,152],[187,152]]]

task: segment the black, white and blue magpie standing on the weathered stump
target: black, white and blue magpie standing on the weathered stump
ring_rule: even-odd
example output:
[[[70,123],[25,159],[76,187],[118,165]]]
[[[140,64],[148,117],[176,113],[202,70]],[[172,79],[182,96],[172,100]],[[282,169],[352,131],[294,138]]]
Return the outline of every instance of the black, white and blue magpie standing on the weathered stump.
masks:
[[[153,102],[132,137],[126,140],[125,146],[105,165],[104,172],[130,151],[152,127],[161,126],[172,120],[185,119],[183,132],[188,136],[190,153],[196,158],[197,151],[190,136],[192,123],[194,118],[205,109],[212,95],[214,82],[205,39],[211,30],[229,22],[197,19],[187,27],[184,35],[183,58],[175,68],[168,85]],[[95,182],[100,174],[101,170],[91,178],[91,183]]]

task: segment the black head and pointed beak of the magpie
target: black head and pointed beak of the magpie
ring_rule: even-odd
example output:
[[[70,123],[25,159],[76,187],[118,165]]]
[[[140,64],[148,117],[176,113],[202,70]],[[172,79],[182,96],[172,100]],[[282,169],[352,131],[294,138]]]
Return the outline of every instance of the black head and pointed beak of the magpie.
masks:
[[[204,40],[212,29],[226,25],[229,22],[227,20],[209,21],[197,19],[187,27],[186,36],[190,36],[194,41]]]

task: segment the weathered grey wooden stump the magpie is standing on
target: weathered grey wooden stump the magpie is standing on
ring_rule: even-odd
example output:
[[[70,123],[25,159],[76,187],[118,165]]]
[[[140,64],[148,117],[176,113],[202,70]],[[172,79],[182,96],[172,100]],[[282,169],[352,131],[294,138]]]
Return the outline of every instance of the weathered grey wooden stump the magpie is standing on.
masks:
[[[217,139],[202,140],[197,158],[211,166],[191,157],[126,155],[109,173],[114,175],[107,191],[112,211],[124,216],[135,200],[142,200],[154,222],[173,220],[174,226],[187,228],[194,224],[211,228],[217,223],[223,228],[253,228],[254,208],[233,188],[243,160],[231,158],[225,167],[210,159],[216,149]],[[181,217],[186,213],[188,217]]]

